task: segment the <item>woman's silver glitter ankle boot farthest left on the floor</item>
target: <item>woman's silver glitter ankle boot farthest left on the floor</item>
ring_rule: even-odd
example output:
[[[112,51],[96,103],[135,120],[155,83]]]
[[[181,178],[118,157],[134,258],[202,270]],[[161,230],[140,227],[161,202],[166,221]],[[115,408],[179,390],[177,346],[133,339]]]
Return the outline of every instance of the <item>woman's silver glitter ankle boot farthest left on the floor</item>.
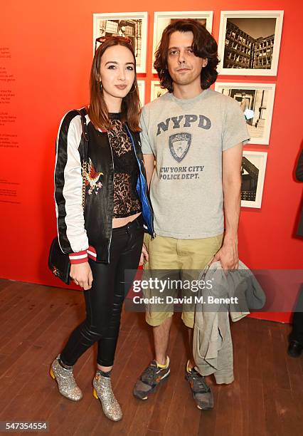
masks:
[[[57,383],[59,392],[69,400],[79,401],[83,397],[83,394],[75,383],[73,375],[73,368],[65,369],[60,365],[58,359],[60,355],[53,361],[50,366],[50,377],[52,377]]]

